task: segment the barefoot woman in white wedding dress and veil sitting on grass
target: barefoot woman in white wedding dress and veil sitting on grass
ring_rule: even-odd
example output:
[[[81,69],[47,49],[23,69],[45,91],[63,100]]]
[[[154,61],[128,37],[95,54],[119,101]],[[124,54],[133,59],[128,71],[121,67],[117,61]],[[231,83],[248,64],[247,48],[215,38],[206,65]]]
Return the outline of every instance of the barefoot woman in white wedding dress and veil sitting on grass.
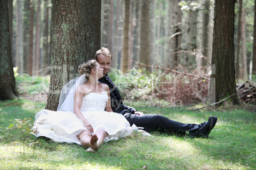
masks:
[[[80,77],[62,88],[57,112],[41,110],[36,114],[32,134],[78,143],[88,152],[95,152],[103,141],[124,138],[137,129],[111,109],[110,89],[98,82],[103,69],[96,60],[83,63],[78,72]]]

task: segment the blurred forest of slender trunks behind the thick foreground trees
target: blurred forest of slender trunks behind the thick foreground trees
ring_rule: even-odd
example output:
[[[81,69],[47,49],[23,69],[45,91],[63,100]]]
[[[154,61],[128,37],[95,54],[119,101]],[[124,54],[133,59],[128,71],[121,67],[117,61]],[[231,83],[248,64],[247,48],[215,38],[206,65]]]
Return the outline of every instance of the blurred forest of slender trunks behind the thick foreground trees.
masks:
[[[178,64],[188,69],[208,67],[212,55],[213,4],[212,0],[148,0],[143,5],[136,0],[103,0],[101,46],[113,53],[112,67],[123,72],[136,65],[131,60],[166,68]],[[247,79],[255,68],[253,6],[253,0],[236,3],[234,45],[238,79]],[[141,13],[141,8],[146,8],[147,13]],[[9,11],[13,64],[20,74],[39,75],[50,66],[52,3],[9,0]],[[141,20],[141,15],[148,17]],[[148,29],[141,32],[141,25]],[[139,57],[141,48],[148,49],[148,54]]]

